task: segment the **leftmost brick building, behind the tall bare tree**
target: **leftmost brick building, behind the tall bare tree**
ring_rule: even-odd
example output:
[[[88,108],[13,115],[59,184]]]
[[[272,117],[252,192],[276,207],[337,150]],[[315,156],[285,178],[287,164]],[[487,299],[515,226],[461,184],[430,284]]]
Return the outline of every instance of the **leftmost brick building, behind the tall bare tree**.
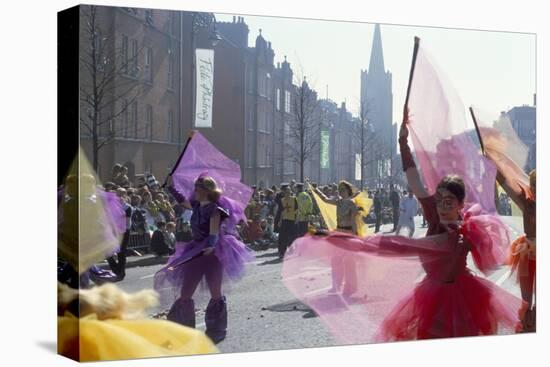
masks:
[[[98,152],[98,174],[111,179],[115,163],[128,166],[130,179],[152,172],[164,178],[177,159],[181,146],[179,115],[181,95],[180,21],[177,12],[97,6],[95,69],[87,52],[91,49],[90,6],[81,6],[81,144],[92,160]],[[118,72],[109,74],[115,65]],[[98,138],[105,142],[93,149],[91,125],[94,108],[86,101],[96,81],[113,76],[105,86],[98,119]],[[101,84],[100,84],[101,85]],[[126,90],[131,90],[125,93]],[[109,139],[109,140],[106,140]],[[99,144],[101,145],[101,144]]]

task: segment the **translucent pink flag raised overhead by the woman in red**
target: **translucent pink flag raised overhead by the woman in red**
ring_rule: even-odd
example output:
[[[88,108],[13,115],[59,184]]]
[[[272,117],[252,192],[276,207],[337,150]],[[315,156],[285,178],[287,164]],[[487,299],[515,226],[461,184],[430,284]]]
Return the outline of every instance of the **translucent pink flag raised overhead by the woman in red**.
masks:
[[[424,185],[433,194],[443,176],[457,174],[466,184],[465,210],[479,203],[495,213],[496,169],[474,143],[475,128],[462,100],[422,45],[413,68],[409,131]]]

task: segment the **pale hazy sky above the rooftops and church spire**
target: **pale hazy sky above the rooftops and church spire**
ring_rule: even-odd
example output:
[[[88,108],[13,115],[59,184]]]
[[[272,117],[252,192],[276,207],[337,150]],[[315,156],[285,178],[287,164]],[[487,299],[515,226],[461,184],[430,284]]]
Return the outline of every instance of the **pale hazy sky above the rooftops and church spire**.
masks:
[[[232,15],[216,14],[218,21]],[[367,69],[374,23],[244,16],[253,45],[262,35],[271,41],[275,63],[284,55],[296,72],[301,65],[320,98],[347,102],[358,111],[360,71]],[[476,105],[491,113],[533,104],[535,93],[535,42],[533,34],[471,31],[381,24],[386,70],[393,75],[394,121],[400,121],[411,64],[413,38],[422,40],[449,76],[465,106]]]

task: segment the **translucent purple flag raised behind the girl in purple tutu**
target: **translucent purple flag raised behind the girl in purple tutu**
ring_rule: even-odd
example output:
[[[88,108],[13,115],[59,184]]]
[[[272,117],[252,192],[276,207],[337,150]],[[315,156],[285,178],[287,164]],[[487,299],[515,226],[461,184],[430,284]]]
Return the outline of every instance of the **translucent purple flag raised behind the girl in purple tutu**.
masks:
[[[246,223],[244,209],[252,196],[252,188],[241,183],[241,167],[210,144],[201,133],[194,132],[172,173],[174,186],[189,198],[195,189],[195,181],[201,175],[216,181],[222,190],[221,204],[226,204],[223,206],[229,206],[232,211],[231,219],[242,219]]]

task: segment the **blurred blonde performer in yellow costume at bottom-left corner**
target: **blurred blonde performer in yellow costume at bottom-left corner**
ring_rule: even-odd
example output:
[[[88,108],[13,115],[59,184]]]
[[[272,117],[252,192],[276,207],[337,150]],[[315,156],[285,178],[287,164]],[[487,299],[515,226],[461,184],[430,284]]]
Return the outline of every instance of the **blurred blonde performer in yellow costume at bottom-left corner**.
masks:
[[[80,318],[70,311],[79,302]],[[71,289],[58,283],[57,351],[80,362],[217,353],[200,330],[147,319],[153,290],[129,294],[114,284]]]

